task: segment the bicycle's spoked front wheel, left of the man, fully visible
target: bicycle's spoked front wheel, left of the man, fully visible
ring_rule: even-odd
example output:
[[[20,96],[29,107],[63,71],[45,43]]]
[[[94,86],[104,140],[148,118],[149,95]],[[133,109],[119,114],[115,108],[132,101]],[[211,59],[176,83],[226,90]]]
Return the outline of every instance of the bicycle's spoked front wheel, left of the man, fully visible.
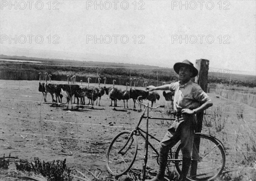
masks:
[[[137,155],[137,137],[131,131],[119,133],[108,147],[106,164],[108,172],[114,176],[125,174]]]

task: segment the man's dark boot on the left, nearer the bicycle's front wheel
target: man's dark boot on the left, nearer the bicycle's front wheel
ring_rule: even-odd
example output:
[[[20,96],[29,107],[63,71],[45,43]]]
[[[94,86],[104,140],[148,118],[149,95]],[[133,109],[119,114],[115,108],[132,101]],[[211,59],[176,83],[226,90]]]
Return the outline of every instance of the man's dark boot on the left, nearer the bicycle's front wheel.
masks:
[[[166,164],[167,164],[168,152],[169,152],[168,147],[161,145],[160,153],[159,153],[159,170],[158,170],[157,176],[151,180],[145,180],[145,181],[164,181],[164,173],[165,173]]]

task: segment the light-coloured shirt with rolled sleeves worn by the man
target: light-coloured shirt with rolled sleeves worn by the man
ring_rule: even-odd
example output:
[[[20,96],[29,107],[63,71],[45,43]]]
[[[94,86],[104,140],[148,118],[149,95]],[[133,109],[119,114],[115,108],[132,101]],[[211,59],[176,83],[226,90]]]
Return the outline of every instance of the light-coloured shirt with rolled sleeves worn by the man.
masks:
[[[180,81],[172,82],[169,89],[175,91],[173,104],[176,111],[184,108],[193,110],[199,107],[200,103],[211,101],[200,85],[192,80],[184,85],[181,85]]]

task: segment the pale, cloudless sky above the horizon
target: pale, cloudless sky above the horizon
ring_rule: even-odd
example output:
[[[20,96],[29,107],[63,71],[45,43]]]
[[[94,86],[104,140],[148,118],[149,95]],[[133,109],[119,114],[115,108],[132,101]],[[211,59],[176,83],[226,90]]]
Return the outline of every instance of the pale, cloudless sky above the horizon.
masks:
[[[256,1],[0,0],[0,53],[256,74]]]

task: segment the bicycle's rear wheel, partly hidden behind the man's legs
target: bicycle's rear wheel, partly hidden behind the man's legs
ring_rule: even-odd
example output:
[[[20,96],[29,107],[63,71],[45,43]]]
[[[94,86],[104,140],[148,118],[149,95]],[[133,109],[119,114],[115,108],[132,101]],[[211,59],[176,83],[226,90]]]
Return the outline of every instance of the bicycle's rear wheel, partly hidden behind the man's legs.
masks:
[[[199,151],[195,147],[195,143],[200,143]],[[182,168],[181,144],[175,151],[175,167],[178,173]],[[187,175],[189,181],[212,181],[224,169],[225,151],[222,144],[214,137],[200,133],[195,133],[194,145],[192,150],[192,161]]]

